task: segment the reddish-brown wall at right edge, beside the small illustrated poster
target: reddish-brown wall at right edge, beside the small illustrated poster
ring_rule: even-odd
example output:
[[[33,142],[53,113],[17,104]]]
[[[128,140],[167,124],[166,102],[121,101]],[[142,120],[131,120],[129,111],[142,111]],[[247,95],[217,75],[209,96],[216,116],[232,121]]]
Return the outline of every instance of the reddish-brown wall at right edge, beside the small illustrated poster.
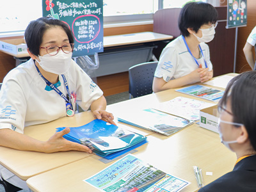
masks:
[[[247,0],[247,12],[248,12],[247,26],[243,28],[238,28],[237,55],[236,55],[237,56],[236,58],[237,73],[252,70],[252,68],[248,65],[245,59],[243,47],[252,29],[256,26],[256,1],[255,0]],[[253,51],[253,53],[255,53],[255,51]]]

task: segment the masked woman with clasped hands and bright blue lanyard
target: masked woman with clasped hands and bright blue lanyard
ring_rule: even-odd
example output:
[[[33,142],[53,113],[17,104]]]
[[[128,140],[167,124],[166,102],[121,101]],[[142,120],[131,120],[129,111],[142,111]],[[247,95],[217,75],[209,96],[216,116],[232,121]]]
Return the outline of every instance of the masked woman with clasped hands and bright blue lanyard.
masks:
[[[212,78],[207,42],[214,38],[218,13],[209,3],[187,3],[179,15],[181,35],[164,47],[156,68],[153,91],[160,92]]]

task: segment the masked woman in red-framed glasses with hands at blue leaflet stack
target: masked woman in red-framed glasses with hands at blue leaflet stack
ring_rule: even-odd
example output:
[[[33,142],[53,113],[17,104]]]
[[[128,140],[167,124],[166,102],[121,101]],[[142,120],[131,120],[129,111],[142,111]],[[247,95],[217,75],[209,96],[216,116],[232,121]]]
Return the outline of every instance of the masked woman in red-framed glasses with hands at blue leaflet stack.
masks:
[[[66,24],[46,17],[33,20],[26,28],[25,40],[31,59],[13,68],[1,87],[0,146],[45,153],[68,150],[92,153],[84,145],[63,139],[69,128],[48,141],[23,134],[26,126],[72,116],[73,95],[84,111],[90,108],[95,118],[115,124],[113,115],[105,111],[102,90],[72,60],[74,37]],[[16,182],[17,178],[10,178],[15,186],[26,187],[26,182],[24,187],[22,182]]]

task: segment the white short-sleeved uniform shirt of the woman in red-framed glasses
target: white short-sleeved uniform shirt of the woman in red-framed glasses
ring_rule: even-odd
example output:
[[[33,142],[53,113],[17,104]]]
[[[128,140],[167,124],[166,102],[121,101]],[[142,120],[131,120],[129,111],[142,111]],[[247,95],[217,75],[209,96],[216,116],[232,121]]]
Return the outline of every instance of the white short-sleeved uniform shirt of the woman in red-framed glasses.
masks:
[[[84,111],[102,96],[99,86],[75,61],[72,60],[64,75],[70,93],[77,93],[77,104]],[[66,96],[67,89],[61,76],[57,84]],[[66,116],[66,101],[47,86],[32,59],[13,68],[4,77],[0,91],[0,129],[9,128],[23,133],[24,126],[43,124],[63,116]]]

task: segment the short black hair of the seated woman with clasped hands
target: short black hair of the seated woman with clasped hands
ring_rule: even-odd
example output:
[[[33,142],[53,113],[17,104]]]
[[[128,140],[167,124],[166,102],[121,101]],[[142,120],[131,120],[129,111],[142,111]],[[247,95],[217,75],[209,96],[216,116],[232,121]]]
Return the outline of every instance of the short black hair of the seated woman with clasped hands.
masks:
[[[188,28],[196,33],[204,24],[216,23],[218,12],[209,3],[191,2],[184,5],[179,15],[179,29],[183,36],[189,36]]]

